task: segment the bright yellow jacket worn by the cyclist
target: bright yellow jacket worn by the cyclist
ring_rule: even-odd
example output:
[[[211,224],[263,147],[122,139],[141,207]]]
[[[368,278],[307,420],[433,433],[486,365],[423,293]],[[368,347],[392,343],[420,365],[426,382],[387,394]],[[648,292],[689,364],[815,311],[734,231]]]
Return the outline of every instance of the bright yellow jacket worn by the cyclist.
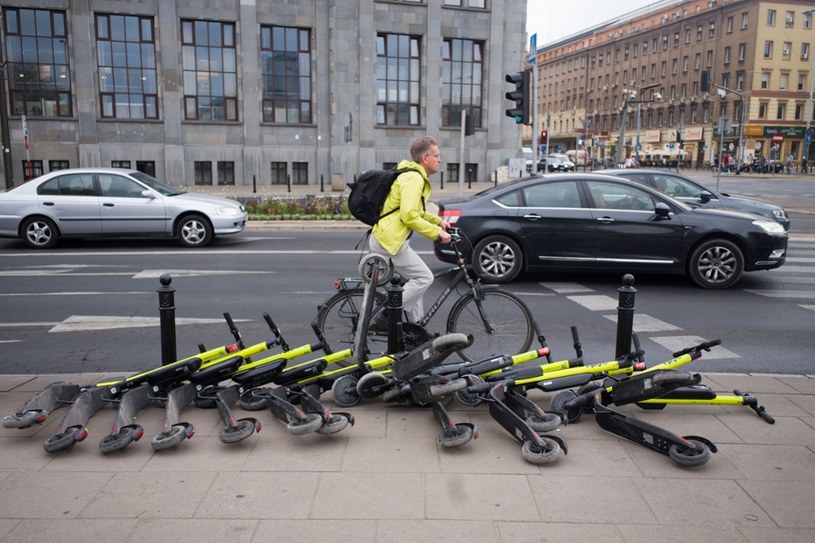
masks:
[[[372,235],[390,254],[399,252],[411,230],[424,237],[435,240],[441,236],[441,219],[425,211],[425,204],[430,199],[430,180],[424,168],[412,160],[403,160],[397,169],[414,169],[405,172],[394,181],[382,214],[398,209],[387,217],[379,219],[372,230]]]

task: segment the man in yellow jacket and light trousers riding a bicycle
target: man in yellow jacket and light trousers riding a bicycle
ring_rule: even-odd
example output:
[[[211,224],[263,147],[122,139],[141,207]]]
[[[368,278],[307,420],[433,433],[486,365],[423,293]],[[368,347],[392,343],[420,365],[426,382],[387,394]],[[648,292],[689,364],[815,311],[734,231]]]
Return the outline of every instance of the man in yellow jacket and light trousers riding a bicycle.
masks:
[[[416,322],[424,315],[422,298],[433,283],[433,272],[424,260],[410,247],[413,232],[431,240],[450,243],[447,228],[450,225],[438,216],[428,213],[425,206],[430,199],[430,180],[441,167],[438,142],[431,137],[421,137],[410,145],[411,160],[403,160],[397,169],[405,172],[396,178],[385,204],[383,215],[371,232],[369,246],[372,252],[391,259],[394,270],[404,279],[402,307],[410,321]],[[371,323],[372,330],[387,329],[387,316],[383,313]]]

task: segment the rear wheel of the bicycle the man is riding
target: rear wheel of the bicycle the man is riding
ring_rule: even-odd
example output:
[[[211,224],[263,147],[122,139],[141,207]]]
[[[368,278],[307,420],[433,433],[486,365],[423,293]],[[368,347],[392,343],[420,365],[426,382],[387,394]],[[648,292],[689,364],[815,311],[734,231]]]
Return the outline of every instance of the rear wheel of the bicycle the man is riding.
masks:
[[[336,293],[320,306],[317,314],[317,326],[322,330],[329,347],[334,351],[349,349],[354,346],[354,336],[359,324],[359,313],[362,310],[363,290],[344,290]],[[386,296],[376,293],[374,313],[385,304]],[[369,340],[373,333],[369,333]],[[387,345],[387,338],[382,338]],[[349,365],[353,362],[344,362]]]

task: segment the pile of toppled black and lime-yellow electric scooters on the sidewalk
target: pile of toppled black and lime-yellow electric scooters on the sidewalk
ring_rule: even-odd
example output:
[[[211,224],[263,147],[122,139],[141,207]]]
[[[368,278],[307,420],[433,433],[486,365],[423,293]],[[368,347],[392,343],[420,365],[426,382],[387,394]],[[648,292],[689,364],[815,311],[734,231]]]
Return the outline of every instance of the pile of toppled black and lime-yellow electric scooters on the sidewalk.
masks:
[[[58,408],[67,408],[55,434],[43,445],[47,452],[63,451],[83,441],[91,417],[112,405],[116,407],[112,431],[99,442],[100,450],[109,454],[143,436],[144,429],[135,421],[152,404],[165,410],[163,429],[151,442],[154,449],[163,450],[195,433],[192,424],[181,420],[190,404],[218,409],[224,424],[219,434],[223,443],[247,439],[261,430],[261,422],[254,417],[237,418],[234,410],[240,405],[246,411],[270,410],[294,435],[333,434],[353,426],[354,417],[350,412],[332,411],[323,403],[321,397],[331,391],[334,404],[343,408],[372,399],[426,406],[441,425],[437,442],[443,448],[462,446],[478,437],[475,424],[451,418],[448,407],[458,401],[470,407],[486,403],[490,416],[521,444],[523,458],[535,464],[552,463],[566,454],[566,442],[560,432],[553,432],[577,422],[584,413],[593,413],[602,429],[668,455],[683,466],[698,466],[716,452],[712,442],[700,436],[676,435],[615,407],[744,405],[768,423],[774,422],[754,396],[739,391],[717,394],[701,384],[698,373],[677,370],[700,358],[719,340],[673,353],[671,360],[650,367],[641,350],[609,362],[584,364],[575,328],[575,357],[562,361],[552,360],[542,335],[538,337],[540,347],[525,353],[477,362],[450,361],[451,355],[472,341],[460,333],[369,358],[364,341],[353,349],[332,352],[315,324],[316,342],[290,347],[268,314],[263,318],[271,339],[247,346],[230,315],[224,317],[234,343],[202,348],[188,358],[122,378],[86,385],[51,383],[4,417],[2,425],[28,428],[42,424]],[[636,347],[637,342],[634,344]],[[318,351],[322,352],[315,357]],[[551,397],[549,411],[530,398],[534,390],[557,392]]]

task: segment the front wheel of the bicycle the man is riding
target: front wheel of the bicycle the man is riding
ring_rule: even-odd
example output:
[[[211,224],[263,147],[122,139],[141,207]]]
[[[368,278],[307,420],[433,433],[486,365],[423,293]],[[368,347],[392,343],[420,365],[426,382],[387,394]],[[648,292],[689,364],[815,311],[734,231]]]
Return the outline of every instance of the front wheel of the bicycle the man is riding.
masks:
[[[529,308],[504,290],[483,290],[480,297],[471,292],[459,299],[447,317],[447,332],[472,334],[473,344],[459,351],[472,362],[526,352],[535,339]]]

